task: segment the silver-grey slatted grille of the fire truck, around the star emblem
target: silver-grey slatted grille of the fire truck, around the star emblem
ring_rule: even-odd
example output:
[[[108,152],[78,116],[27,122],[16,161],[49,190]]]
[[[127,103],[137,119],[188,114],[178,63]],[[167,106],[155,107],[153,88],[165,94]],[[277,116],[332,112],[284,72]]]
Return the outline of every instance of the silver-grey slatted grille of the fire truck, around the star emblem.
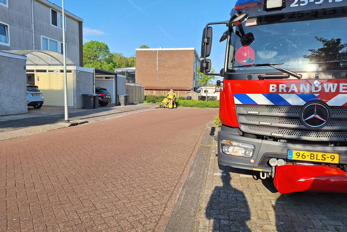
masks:
[[[245,133],[282,139],[346,141],[347,107],[332,108],[330,122],[317,130],[301,123],[301,107],[238,105],[236,112],[240,130]]]

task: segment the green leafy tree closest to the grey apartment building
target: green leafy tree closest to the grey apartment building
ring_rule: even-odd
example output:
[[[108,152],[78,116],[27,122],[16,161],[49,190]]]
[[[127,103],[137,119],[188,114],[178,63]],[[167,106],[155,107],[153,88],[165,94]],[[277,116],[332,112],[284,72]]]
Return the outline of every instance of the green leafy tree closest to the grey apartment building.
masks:
[[[86,68],[97,68],[114,72],[113,56],[107,44],[89,41],[83,45],[83,63]]]

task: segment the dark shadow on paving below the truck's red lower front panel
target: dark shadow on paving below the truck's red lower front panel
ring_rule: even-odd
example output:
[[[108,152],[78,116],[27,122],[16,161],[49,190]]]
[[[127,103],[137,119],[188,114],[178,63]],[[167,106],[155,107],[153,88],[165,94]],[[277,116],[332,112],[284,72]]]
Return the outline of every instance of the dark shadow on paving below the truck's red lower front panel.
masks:
[[[277,231],[347,231],[347,194],[281,195],[274,209]]]

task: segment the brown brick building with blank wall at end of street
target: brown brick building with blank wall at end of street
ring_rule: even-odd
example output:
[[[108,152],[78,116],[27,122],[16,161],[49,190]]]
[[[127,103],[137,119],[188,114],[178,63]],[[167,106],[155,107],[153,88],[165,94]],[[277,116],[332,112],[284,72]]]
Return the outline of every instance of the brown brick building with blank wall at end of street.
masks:
[[[144,86],[145,95],[166,95],[172,88],[187,96],[200,87],[200,58],[194,48],[137,49],[136,63],[136,81]]]

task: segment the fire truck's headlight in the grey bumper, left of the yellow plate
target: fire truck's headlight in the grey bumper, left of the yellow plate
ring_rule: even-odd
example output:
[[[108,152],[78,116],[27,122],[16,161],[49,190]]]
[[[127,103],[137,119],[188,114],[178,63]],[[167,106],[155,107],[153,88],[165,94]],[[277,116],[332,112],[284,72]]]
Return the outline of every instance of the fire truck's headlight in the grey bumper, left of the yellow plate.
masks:
[[[235,155],[241,157],[251,157],[254,151],[254,145],[222,140],[222,151],[226,155]]]

